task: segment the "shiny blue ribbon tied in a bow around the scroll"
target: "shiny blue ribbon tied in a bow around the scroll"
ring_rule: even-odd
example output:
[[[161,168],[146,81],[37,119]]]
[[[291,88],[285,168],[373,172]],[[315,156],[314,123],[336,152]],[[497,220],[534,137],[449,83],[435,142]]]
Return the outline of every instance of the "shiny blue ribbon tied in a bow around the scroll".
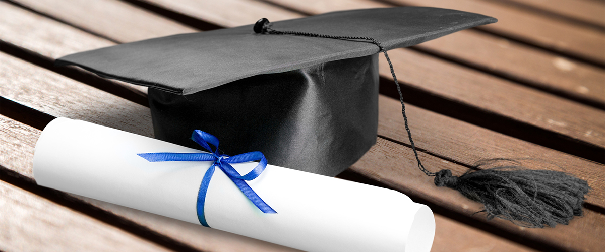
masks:
[[[208,192],[208,186],[210,184],[210,179],[212,179],[212,175],[214,175],[214,168],[218,166],[223,172],[229,176],[231,181],[235,183],[241,192],[252,201],[254,205],[258,207],[263,213],[277,213],[273,208],[269,207],[269,205],[261,199],[260,196],[257,195],[250,186],[246,183],[245,180],[252,180],[258,177],[263,173],[265,167],[267,167],[267,159],[264,157],[261,152],[248,152],[240,155],[235,155],[233,157],[229,157],[227,155],[219,155],[218,154],[218,138],[214,135],[208,134],[206,132],[195,130],[191,135],[191,139],[204,147],[204,149],[208,150],[212,153],[174,153],[174,152],[154,152],[154,153],[138,153],[142,158],[145,158],[149,162],[166,162],[166,161],[214,161],[212,166],[208,168],[206,174],[204,174],[204,178],[201,179],[200,190],[197,193],[197,218],[200,221],[200,224],[204,227],[210,227],[208,222],[206,222],[206,217],[204,216],[204,202],[206,201],[206,192]],[[212,148],[209,144],[214,145],[215,150],[212,151]],[[237,170],[234,169],[231,164],[238,163],[246,163],[249,161],[260,160],[254,169],[248,172],[246,175],[241,176]]]

